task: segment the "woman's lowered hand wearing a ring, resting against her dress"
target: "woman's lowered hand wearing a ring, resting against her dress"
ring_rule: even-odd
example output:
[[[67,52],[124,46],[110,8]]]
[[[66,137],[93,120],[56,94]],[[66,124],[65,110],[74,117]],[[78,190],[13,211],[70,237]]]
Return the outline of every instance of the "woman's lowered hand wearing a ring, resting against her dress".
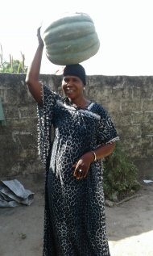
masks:
[[[92,152],[85,153],[72,167],[75,168],[73,176],[76,179],[85,178],[89,171],[89,166],[94,160]]]

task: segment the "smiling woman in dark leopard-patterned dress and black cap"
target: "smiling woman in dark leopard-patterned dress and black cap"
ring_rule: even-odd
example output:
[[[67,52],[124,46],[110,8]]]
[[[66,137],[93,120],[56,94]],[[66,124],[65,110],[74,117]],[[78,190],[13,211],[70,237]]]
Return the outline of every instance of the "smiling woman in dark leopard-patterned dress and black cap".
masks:
[[[113,152],[118,135],[105,109],[85,98],[81,65],[64,68],[64,98],[40,84],[40,28],[37,36],[26,82],[38,103],[39,153],[46,168],[43,256],[110,256],[101,159]]]

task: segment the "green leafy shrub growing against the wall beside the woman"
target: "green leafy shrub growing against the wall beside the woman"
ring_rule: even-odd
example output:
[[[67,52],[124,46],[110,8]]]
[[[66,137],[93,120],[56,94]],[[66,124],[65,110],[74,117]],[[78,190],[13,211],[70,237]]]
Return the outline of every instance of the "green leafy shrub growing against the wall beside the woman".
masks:
[[[123,199],[138,191],[139,170],[122,149],[121,142],[116,143],[114,152],[105,157],[103,170],[103,186],[105,198]]]

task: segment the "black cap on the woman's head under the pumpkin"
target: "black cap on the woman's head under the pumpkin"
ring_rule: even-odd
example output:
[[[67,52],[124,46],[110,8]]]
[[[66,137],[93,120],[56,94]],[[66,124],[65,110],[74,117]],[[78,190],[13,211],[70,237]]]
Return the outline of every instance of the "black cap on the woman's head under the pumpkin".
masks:
[[[81,78],[81,81],[83,84],[86,84],[86,79],[85,79],[85,69],[82,65],[80,64],[72,64],[72,65],[66,65],[64,68],[64,77],[65,76],[75,76],[78,78]]]

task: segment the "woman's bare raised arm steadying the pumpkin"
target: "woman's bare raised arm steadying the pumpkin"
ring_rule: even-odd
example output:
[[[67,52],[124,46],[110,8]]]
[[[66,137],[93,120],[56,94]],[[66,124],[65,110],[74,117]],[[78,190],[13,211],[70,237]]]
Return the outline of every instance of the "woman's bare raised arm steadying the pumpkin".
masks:
[[[33,61],[31,62],[31,65],[27,70],[26,82],[35,101],[39,104],[42,104],[42,85],[39,82],[39,70],[43,55],[43,40],[40,36],[40,27],[37,30],[37,36],[39,40],[39,45],[35,52]]]

